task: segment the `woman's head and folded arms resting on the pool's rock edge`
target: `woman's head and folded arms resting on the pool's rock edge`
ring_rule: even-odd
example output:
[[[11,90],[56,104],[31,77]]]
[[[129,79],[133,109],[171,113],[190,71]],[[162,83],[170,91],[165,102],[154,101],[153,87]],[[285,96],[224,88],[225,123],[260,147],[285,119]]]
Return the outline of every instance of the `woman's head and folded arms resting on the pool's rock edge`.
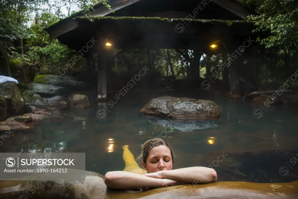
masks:
[[[157,188],[178,184],[210,183],[217,180],[214,169],[187,167],[174,169],[170,145],[160,138],[153,138],[143,144],[138,159],[147,172],[140,175],[127,171],[110,171],[105,174],[105,184],[114,189]]]

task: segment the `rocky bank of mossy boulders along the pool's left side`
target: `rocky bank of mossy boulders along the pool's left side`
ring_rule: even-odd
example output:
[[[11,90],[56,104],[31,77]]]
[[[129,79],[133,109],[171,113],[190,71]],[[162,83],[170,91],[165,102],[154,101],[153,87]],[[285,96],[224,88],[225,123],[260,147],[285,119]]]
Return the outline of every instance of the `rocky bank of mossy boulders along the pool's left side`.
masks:
[[[46,82],[49,82],[49,78],[53,80],[53,76],[36,76],[30,84],[12,81],[0,83],[0,133],[8,136],[7,133],[15,130],[31,128],[32,122],[52,117],[51,113],[55,110],[89,107],[88,97],[76,94],[86,89],[86,83],[65,76],[62,80],[57,80],[56,84],[66,87],[54,84],[49,87]],[[77,85],[80,85],[79,88],[74,90]]]

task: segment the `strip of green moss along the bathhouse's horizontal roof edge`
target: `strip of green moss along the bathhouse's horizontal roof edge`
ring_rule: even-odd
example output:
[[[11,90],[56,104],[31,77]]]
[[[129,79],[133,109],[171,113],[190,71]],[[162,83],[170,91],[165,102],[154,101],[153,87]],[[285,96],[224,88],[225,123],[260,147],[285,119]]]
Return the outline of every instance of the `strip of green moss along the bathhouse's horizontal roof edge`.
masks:
[[[218,19],[187,19],[187,18],[161,18],[161,17],[112,17],[112,16],[103,16],[103,17],[92,17],[92,16],[85,16],[85,17],[76,17],[79,19],[87,19],[91,22],[95,22],[97,20],[103,20],[103,19],[114,19],[114,20],[121,20],[121,19],[147,19],[147,20],[167,20],[167,21],[193,21],[193,22],[201,22],[201,23],[213,23],[213,22],[220,22],[220,23],[227,23],[228,25],[232,25],[232,23],[254,23],[254,22],[249,22],[246,20],[218,20]],[[75,18],[75,19],[76,19]]]

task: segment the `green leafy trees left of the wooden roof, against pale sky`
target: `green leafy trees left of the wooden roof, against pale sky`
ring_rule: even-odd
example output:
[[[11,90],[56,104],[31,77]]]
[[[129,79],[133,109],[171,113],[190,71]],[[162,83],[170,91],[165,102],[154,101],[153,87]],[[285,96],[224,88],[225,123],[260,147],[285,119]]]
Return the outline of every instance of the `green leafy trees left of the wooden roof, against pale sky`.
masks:
[[[73,50],[57,39],[51,39],[44,28],[71,15],[74,6],[88,15],[93,5],[100,2],[109,7],[107,0],[0,1],[0,39],[10,42],[10,45],[6,46],[10,60],[40,63],[41,72],[51,73],[59,70],[61,63],[68,59]],[[66,7],[68,15],[62,13],[63,6]],[[35,13],[33,20],[32,13]],[[28,27],[30,22],[33,23]],[[12,47],[11,43],[16,41],[21,41],[21,45],[26,46],[24,54],[21,54],[23,46]]]

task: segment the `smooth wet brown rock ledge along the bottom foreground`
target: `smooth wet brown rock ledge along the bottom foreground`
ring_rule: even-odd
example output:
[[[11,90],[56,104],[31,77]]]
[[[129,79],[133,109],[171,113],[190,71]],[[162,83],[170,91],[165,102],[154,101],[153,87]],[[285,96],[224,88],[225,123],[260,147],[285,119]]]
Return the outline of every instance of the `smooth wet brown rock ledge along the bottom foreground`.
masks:
[[[78,172],[80,171],[80,172]],[[69,176],[78,176],[82,170],[67,169]],[[194,181],[160,187],[145,192],[128,192],[124,189],[107,188],[104,176],[96,172],[85,171],[80,174],[84,180],[41,180],[35,181],[15,179],[14,181],[0,181],[0,198],[70,198],[70,199],[159,199],[159,198],[263,198],[263,199],[294,199],[298,196],[298,181],[287,183],[251,183],[251,182],[223,182],[200,184]],[[80,176],[78,176],[79,178]],[[22,196],[22,197],[20,197]]]

